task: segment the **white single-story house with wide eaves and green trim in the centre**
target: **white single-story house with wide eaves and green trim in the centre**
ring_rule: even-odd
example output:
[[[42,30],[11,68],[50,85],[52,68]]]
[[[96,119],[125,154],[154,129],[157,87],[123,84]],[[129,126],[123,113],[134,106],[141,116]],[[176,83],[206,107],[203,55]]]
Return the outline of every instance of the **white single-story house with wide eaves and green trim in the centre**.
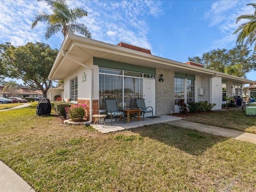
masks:
[[[221,109],[223,96],[242,94],[243,84],[253,83],[194,62],[154,56],[138,46],[74,34],[65,36],[48,78],[64,80],[64,101],[90,106],[90,120],[105,109],[106,98],[116,99],[120,108],[133,108],[134,98],[144,98],[156,115],[179,112],[181,98],[186,103],[206,100]]]

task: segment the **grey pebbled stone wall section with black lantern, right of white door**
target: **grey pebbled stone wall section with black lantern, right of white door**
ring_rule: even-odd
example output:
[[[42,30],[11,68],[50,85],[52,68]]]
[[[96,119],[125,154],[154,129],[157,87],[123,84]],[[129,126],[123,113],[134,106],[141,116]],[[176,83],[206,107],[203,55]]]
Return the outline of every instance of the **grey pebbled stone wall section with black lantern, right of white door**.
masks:
[[[160,75],[164,82],[159,82]],[[156,115],[174,113],[174,72],[156,69]]]

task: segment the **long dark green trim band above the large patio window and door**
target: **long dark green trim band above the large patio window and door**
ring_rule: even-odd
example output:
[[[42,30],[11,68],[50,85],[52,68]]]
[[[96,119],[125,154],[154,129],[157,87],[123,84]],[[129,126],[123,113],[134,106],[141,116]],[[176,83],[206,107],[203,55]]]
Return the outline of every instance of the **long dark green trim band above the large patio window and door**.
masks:
[[[112,61],[108,59],[102,59],[102,58],[93,58],[93,64],[98,65],[99,67],[105,67],[105,68],[112,68],[112,69],[120,69],[120,70],[126,70],[126,71],[134,71],[134,72],[140,72],[140,73],[147,73],[147,74],[156,74],[156,69],[151,67],[144,67],[129,63],[123,63],[118,61]]]

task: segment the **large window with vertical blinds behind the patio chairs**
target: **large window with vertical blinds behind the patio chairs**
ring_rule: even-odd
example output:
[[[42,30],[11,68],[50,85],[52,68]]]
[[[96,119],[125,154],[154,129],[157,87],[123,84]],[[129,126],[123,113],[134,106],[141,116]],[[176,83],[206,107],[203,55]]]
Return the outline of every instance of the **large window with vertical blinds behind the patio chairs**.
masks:
[[[116,99],[118,108],[136,108],[135,98],[142,98],[143,78],[155,78],[123,70],[99,68],[99,109],[105,109],[106,99]]]

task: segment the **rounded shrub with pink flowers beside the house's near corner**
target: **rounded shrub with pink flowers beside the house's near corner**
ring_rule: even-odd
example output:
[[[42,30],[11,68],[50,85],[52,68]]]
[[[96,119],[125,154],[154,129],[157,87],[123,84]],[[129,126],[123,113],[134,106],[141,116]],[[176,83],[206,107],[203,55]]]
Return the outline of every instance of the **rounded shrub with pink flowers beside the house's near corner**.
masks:
[[[68,113],[70,119],[74,122],[82,122],[86,114],[86,104],[77,104],[70,107],[66,107],[66,113]]]

